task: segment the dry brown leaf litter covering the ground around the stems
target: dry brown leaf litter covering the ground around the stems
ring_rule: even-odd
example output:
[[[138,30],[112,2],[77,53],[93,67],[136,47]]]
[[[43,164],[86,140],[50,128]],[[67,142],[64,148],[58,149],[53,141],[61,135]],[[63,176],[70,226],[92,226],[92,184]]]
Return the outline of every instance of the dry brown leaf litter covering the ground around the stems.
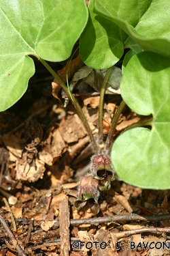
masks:
[[[84,66],[88,75],[85,72],[82,77],[76,73],[82,72],[80,58],[73,61],[73,70],[70,72],[71,76],[75,74],[71,82],[73,94],[80,102],[97,139],[99,89],[93,82],[99,72]],[[80,210],[73,207],[78,197],[77,187],[82,171],[85,174],[90,168],[90,157],[93,154],[90,141],[70,102],[67,101],[67,107],[63,106],[67,97],[59,85],[54,85],[56,81],[52,84],[53,96],[60,99],[56,100],[51,94],[52,77],[46,80],[43,67],[38,61],[35,64],[37,73],[31,79],[27,93],[12,108],[0,113],[1,216],[24,253],[51,256],[169,255],[167,248],[145,248],[147,242],[157,242],[158,245],[168,243],[168,232],[152,233],[148,229],[141,231],[146,227],[168,227],[169,221],[106,221],[101,225],[86,221],[129,213],[146,216],[169,214],[169,190],[142,190],[125,184],[118,178],[111,182],[112,188],[109,191],[101,193],[97,216],[92,214],[88,205]],[[60,64],[63,69],[61,66],[54,66],[54,63],[51,65],[62,70],[61,74],[65,75],[65,63]],[[117,74],[120,74],[116,69]],[[102,81],[101,73],[98,79]],[[116,94],[112,91],[113,88],[109,88],[110,85],[104,99],[103,137],[109,132],[112,118],[121,102],[119,91]],[[116,89],[119,90],[118,86]],[[115,139],[127,126],[143,118],[126,107],[118,120]],[[11,212],[3,201],[3,197],[8,199],[10,195],[16,198],[13,205],[9,203]],[[84,223],[72,224],[78,220],[84,220]],[[0,255],[18,255],[16,246],[12,246],[2,226],[0,240]],[[73,242],[80,240],[88,243],[89,247],[73,248]],[[107,244],[107,248],[100,248],[99,243],[102,242]],[[121,246],[117,250],[118,242]],[[132,249],[129,247],[130,242],[139,246]],[[92,248],[91,244],[94,245]]]

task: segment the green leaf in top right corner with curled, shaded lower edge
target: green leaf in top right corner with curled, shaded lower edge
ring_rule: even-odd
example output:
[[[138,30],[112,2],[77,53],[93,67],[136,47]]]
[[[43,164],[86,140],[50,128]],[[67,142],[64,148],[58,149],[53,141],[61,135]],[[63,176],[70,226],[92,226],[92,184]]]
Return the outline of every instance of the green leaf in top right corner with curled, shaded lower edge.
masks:
[[[133,1],[124,0],[118,3],[120,8],[121,5],[126,5]],[[123,31],[125,31],[130,38],[126,39],[124,42],[124,47],[131,48],[135,47],[131,45],[131,40],[133,39],[143,50],[154,51],[170,57],[170,32],[169,32],[169,10],[170,1],[169,0],[146,0],[142,1],[142,8],[139,5],[136,6],[139,11],[139,20],[135,24],[120,15],[120,12],[112,12],[112,9],[117,5],[112,1],[112,5],[105,5],[103,0],[95,0],[95,11],[101,16],[112,20],[114,24],[118,25]],[[136,1],[138,5],[138,1]],[[142,10],[143,12],[140,12]],[[130,12],[124,8],[124,12],[128,15]],[[129,15],[131,17],[131,15]],[[132,20],[137,20],[133,16]]]

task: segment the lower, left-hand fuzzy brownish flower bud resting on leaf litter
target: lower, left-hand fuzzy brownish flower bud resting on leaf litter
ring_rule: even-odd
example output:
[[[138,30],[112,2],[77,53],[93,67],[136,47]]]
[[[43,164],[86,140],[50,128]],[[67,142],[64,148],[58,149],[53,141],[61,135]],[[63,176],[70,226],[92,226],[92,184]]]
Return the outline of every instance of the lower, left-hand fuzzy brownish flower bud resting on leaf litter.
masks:
[[[93,214],[98,214],[100,210],[97,203],[99,199],[98,183],[99,181],[93,179],[92,175],[82,177],[78,190],[78,199],[74,202],[75,209],[80,210],[80,208],[88,205]]]

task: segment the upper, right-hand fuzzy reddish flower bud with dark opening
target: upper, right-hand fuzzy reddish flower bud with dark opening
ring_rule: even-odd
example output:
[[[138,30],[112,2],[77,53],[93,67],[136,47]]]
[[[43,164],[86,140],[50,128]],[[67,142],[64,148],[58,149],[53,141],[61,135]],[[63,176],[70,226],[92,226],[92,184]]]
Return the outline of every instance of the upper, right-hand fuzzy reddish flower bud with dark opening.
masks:
[[[99,190],[109,190],[112,180],[116,180],[116,173],[112,167],[109,156],[103,154],[92,156],[90,173],[93,178],[99,180]]]

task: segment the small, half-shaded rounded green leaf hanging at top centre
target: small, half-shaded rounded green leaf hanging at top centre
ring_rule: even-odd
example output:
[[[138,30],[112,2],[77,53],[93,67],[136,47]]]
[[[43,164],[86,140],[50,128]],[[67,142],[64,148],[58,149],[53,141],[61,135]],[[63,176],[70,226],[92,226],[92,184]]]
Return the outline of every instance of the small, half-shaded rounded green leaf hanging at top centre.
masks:
[[[80,55],[87,66],[110,68],[122,57],[122,35],[117,25],[93,12],[93,2],[90,0],[88,23],[80,36]]]

